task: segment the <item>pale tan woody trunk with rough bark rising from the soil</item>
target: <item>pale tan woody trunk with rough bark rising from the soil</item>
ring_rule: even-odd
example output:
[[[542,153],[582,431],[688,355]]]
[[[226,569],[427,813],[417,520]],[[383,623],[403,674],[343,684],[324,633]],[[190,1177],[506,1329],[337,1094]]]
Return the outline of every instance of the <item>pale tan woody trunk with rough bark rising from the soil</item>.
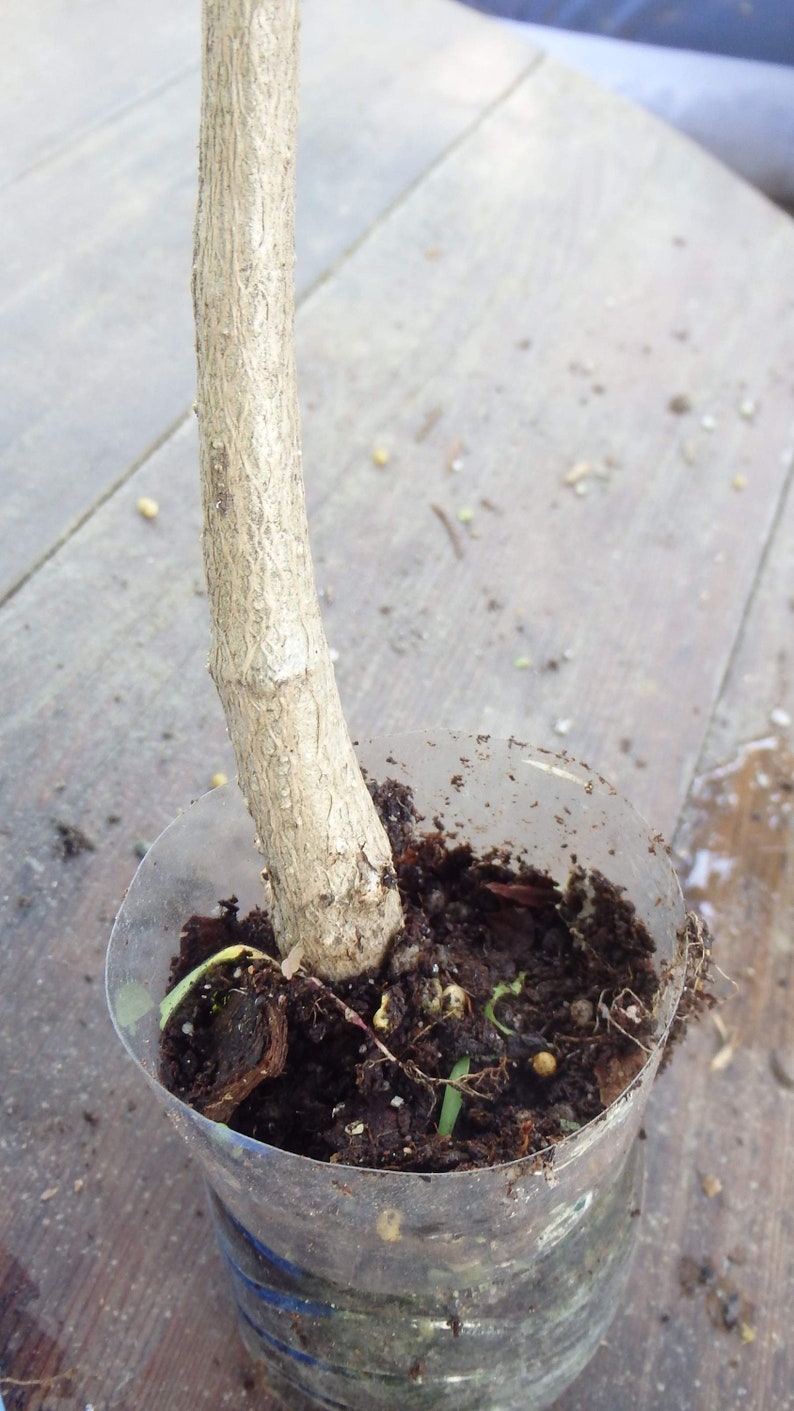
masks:
[[[210,672],[282,954],[374,968],[401,924],[314,588],[293,341],[298,0],[204,0],[196,214]]]

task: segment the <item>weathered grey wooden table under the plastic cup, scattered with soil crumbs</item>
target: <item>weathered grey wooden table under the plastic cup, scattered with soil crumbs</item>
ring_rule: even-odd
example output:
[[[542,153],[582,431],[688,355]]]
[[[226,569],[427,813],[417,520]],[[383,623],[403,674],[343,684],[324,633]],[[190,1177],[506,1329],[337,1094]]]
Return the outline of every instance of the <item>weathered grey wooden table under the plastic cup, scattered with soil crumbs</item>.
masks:
[[[197,8],[0,18],[7,1411],[272,1407],[102,986],[137,844],[231,773]],[[697,864],[733,982],[657,1085],[630,1295],[560,1411],[791,1408],[794,226],[453,0],[306,0],[303,63],[305,461],[351,727],[597,763]]]

